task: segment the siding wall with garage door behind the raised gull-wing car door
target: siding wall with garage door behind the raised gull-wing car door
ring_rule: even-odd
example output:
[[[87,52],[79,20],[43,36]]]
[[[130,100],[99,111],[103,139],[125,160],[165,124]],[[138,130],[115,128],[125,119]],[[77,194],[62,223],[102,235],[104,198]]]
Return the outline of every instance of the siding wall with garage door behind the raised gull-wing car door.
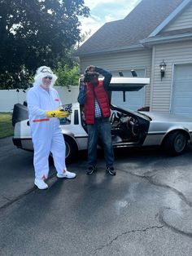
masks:
[[[104,67],[111,71],[114,76],[119,75],[119,71],[124,76],[131,77],[131,70],[137,72],[137,76],[151,77],[151,50],[148,51],[130,51],[127,53],[115,53],[113,55],[93,55],[92,57],[81,59],[81,72],[89,64]],[[112,93],[112,104],[131,109],[142,108],[150,104],[150,86],[146,86],[140,91],[126,92],[126,101],[122,100],[121,92]]]

